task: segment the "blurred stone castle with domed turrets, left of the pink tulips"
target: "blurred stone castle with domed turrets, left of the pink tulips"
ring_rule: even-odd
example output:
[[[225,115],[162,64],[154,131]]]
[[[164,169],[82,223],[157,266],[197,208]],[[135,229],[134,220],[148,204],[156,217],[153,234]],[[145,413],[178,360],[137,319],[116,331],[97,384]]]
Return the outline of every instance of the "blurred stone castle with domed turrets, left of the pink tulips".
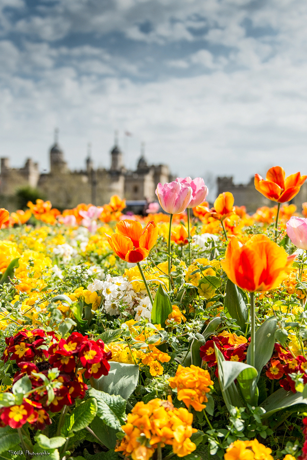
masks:
[[[70,171],[64,159],[64,152],[58,144],[56,130],[55,143],[50,149],[50,172],[40,173],[38,163],[31,158],[23,168],[11,168],[9,158],[1,158],[0,199],[3,206],[14,211],[14,195],[18,189],[31,186],[40,190],[55,208],[74,208],[78,203],[102,205],[109,202],[112,195],[127,200],[156,200],[158,182],[172,180],[167,165],[148,165],[144,156],[144,145],[135,171],[124,166],[123,153],[115,145],[111,152],[110,169],[93,167],[90,152],[81,171]],[[11,208],[11,209],[10,209]]]

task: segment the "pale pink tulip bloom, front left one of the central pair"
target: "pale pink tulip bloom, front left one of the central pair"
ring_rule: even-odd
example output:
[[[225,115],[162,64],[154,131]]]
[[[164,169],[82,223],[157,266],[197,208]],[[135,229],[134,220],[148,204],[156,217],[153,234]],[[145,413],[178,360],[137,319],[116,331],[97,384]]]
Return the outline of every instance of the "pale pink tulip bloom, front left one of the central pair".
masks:
[[[158,183],[156,195],[161,208],[169,214],[183,213],[192,199],[192,188],[185,186],[177,180],[173,182]]]

